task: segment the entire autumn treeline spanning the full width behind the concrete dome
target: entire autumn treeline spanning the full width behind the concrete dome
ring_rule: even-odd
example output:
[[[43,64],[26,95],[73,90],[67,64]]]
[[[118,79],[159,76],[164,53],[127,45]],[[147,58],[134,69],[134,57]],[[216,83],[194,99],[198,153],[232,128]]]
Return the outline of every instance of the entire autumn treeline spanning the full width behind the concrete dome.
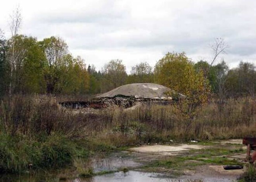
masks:
[[[142,62],[127,74],[122,60],[111,60],[96,71],[74,58],[59,37],[38,41],[25,35],[0,37],[0,94],[99,94],[128,83],[160,83],[186,94],[199,83],[209,85],[219,97],[254,95],[254,64],[240,62],[229,69],[225,61],[211,66],[193,63],[185,53],[167,53],[152,68]],[[197,84],[195,84],[197,82]],[[205,86],[205,85],[204,85]]]

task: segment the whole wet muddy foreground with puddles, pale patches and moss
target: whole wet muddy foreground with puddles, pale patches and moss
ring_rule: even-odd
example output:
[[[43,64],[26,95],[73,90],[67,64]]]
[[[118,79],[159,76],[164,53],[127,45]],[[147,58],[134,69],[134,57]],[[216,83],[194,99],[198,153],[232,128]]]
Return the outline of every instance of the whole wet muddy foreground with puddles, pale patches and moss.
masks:
[[[73,169],[3,176],[0,182],[232,182],[247,168],[245,154],[242,140],[144,145],[97,155]],[[84,177],[88,169],[93,173]]]

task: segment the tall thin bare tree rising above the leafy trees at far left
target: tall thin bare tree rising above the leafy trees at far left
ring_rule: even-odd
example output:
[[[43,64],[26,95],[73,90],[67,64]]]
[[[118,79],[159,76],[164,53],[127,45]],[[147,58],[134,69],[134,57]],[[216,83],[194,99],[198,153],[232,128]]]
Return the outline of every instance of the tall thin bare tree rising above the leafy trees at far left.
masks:
[[[15,56],[15,44],[16,44],[16,36],[18,35],[19,28],[21,26],[21,10],[19,6],[14,10],[12,15],[10,15],[10,31],[12,35],[11,47],[12,52],[10,54],[10,83],[9,83],[9,97],[12,95],[12,80],[13,80],[13,70],[16,65],[16,56]]]

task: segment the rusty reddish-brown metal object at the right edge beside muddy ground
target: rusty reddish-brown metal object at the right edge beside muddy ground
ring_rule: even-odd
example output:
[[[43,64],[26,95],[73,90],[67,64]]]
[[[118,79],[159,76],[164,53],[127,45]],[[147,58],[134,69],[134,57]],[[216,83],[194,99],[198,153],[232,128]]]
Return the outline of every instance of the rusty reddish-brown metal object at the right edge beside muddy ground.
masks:
[[[256,161],[256,137],[243,138],[243,144],[247,146],[246,160],[249,163],[254,163]],[[254,152],[251,152],[251,150]]]

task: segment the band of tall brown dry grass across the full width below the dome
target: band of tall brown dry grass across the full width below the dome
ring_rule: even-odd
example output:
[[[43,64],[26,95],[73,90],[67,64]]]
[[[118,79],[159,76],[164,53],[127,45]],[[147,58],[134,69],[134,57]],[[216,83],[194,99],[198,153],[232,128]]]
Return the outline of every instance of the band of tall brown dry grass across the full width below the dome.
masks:
[[[239,138],[255,136],[255,118],[256,100],[251,97],[227,99],[221,109],[215,100],[210,100],[197,109],[189,123],[175,104],[151,103],[129,110],[111,107],[84,112],[63,108],[54,97],[45,95],[16,95],[0,103],[1,131],[31,137],[62,133],[71,138],[100,134],[121,134],[125,138],[138,139],[163,135],[166,140]]]

